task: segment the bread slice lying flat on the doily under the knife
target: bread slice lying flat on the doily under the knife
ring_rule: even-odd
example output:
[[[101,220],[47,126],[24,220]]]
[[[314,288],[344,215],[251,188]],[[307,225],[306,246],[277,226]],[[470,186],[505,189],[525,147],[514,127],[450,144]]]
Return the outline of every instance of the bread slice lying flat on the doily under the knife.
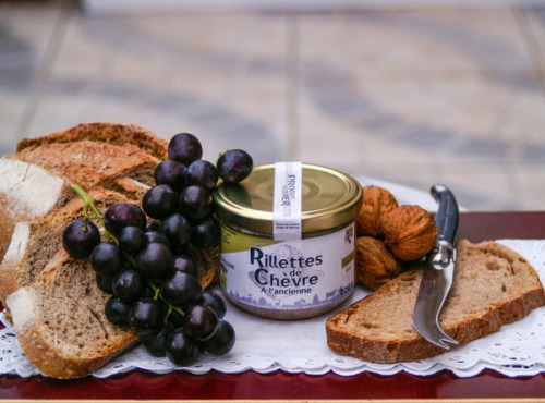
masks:
[[[534,268],[496,242],[457,244],[455,281],[440,314],[447,334],[465,344],[522,319],[545,305]],[[375,363],[400,363],[445,352],[413,327],[422,268],[401,273],[374,294],[326,321],[327,343],[342,355]]]

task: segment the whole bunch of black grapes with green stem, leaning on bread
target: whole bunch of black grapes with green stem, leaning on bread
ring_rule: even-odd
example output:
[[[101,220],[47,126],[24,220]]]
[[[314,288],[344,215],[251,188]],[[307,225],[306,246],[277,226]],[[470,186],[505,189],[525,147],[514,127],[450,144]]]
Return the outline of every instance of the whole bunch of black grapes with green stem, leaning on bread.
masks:
[[[219,179],[240,182],[251,173],[253,161],[234,149],[220,155],[215,166],[202,154],[194,135],[177,134],[142,207],[118,203],[104,217],[88,195],[73,186],[87,206],[86,217],[70,223],[62,239],[72,257],[89,260],[97,285],[111,294],[107,318],[137,331],[152,355],[168,356],[177,365],[190,365],[204,352],[227,354],[235,340],[225,320],[223,300],[203,289],[194,251],[219,243],[211,204]],[[105,242],[90,217],[104,225]]]

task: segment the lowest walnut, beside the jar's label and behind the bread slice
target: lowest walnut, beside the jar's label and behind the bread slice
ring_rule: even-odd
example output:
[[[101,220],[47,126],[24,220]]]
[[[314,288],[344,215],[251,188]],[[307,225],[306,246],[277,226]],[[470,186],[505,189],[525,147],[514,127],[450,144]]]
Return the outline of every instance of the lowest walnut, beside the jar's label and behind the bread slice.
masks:
[[[383,241],[372,236],[355,240],[355,278],[375,291],[401,272],[401,262],[386,248]]]

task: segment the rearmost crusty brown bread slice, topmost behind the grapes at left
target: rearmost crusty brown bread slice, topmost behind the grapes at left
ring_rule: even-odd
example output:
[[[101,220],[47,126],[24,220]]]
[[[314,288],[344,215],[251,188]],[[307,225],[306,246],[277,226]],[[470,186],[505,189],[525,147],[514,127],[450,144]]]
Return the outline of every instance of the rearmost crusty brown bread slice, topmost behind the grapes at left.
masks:
[[[106,183],[125,176],[150,185],[157,163],[168,158],[168,141],[134,124],[84,123],[24,138],[12,158],[84,188],[109,187]]]

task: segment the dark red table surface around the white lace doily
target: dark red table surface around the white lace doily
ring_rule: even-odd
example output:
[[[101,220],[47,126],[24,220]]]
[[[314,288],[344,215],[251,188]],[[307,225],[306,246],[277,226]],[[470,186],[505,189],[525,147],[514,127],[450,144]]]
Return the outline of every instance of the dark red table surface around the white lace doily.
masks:
[[[545,239],[545,211],[463,212],[459,239]],[[50,400],[331,400],[331,399],[545,399],[545,374],[509,378],[486,370],[471,378],[449,371],[429,377],[335,374],[310,376],[246,371],[154,375],[134,370],[98,379],[58,380],[36,376],[0,376],[0,399]]]

